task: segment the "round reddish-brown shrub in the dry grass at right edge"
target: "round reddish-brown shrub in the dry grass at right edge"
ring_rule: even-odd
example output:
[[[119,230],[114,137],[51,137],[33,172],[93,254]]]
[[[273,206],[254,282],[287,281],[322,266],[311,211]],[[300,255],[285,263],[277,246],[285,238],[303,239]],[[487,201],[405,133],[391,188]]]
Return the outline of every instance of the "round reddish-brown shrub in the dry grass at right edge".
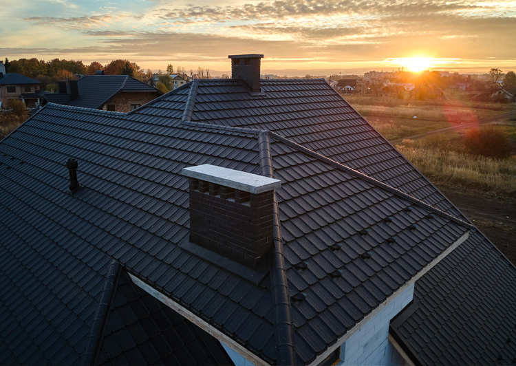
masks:
[[[493,126],[470,129],[464,136],[464,147],[472,155],[506,159],[513,153],[513,144],[501,129]]]

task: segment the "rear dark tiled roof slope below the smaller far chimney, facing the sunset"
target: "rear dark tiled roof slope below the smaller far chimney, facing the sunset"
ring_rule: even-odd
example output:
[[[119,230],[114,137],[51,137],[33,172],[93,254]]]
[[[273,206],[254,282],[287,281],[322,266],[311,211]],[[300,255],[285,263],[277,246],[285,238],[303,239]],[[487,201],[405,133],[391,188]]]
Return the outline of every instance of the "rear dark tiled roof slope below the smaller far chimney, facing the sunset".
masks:
[[[240,80],[202,80],[191,120],[274,131],[441,211],[462,217],[324,79],[261,80],[261,90],[264,96],[250,96]]]

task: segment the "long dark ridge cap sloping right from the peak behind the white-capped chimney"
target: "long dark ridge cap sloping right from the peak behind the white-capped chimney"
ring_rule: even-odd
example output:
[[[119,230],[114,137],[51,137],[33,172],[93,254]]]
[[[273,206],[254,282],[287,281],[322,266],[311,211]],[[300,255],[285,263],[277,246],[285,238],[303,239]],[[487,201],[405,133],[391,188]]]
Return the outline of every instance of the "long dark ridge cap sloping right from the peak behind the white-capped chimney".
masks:
[[[450,219],[451,221],[453,221],[457,224],[464,225],[467,228],[477,229],[476,226],[470,224],[469,222],[464,222],[461,219],[458,219],[457,217],[450,215],[449,213],[445,213],[444,211],[441,211],[438,208],[430,206],[429,204],[424,203],[424,202],[418,200],[417,198],[412,197],[411,195],[407,195],[407,193],[402,192],[399,189],[394,188],[393,186],[389,186],[389,184],[380,182],[379,180],[376,180],[372,177],[369,177],[368,175],[365,175],[364,173],[356,171],[355,169],[352,169],[349,166],[345,166],[339,162],[336,162],[335,160],[332,160],[330,158],[325,157],[324,155],[321,155],[320,153],[316,153],[315,151],[307,149],[306,147],[303,147],[300,144],[297,144],[296,142],[288,140],[288,138],[284,138],[283,136],[280,136],[277,133],[270,132],[270,135],[275,140],[279,140],[279,141],[283,142],[284,144],[287,144],[288,146],[293,147],[294,149],[297,149],[303,153],[311,155],[312,157],[314,157],[316,159],[323,160],[323,162],[326,162],[327,164],[330,164],[330,165],[336,167],[337,169],[341,169],[341,170],[345,171],[346,173],[353,175],[354,177],[358,177],[361,180],[365,180],[366,182],[368,182],[370,184],[374,184],[375,186],[380,187],[381,189],[385,189],[385,191],[389,191],[391,193],[394,193],[395,195],[401,196],[405,200],[412,202],[413,204],[418,204],[419,206],[422,206],[433,213],[437,213],[438,215],[444,216],[447,219]]]

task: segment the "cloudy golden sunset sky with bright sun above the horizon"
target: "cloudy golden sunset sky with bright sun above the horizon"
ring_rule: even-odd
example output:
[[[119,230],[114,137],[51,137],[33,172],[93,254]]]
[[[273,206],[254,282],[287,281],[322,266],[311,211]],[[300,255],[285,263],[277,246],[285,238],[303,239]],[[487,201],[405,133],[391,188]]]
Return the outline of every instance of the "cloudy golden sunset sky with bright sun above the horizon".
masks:
[[[2,0],[0,58],[66,58],[262,74],[516,70],[516,1]]]

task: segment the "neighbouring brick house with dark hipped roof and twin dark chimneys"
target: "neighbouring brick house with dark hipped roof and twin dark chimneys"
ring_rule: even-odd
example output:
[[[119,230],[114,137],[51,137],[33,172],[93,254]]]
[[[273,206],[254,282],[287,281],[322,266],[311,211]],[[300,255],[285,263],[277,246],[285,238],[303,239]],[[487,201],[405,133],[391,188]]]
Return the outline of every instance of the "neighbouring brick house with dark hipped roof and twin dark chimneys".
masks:
[[[58,93],[46,94],[42,105],[55,103],[74,107],[128,112],[163,95],[132,76],[88,75],[58,82]]]

